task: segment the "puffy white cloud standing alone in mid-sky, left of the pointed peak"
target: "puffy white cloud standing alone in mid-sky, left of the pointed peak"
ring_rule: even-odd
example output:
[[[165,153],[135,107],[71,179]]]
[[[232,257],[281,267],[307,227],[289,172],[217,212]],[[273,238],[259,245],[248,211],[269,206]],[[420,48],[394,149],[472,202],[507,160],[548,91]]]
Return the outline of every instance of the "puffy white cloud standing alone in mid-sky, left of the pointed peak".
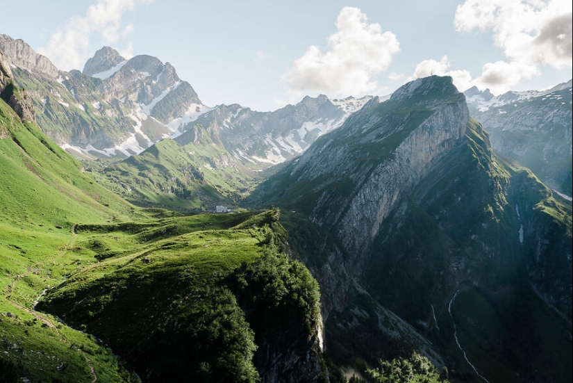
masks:
[[[400,50],[392,32],[370,23],[358,8],[344,7],[336,19],[337,31],[322,52],[312,45],[283,75],[291,93],[321,92],[327,95],[364,95],[374,92],[374,76],[388,69]]]

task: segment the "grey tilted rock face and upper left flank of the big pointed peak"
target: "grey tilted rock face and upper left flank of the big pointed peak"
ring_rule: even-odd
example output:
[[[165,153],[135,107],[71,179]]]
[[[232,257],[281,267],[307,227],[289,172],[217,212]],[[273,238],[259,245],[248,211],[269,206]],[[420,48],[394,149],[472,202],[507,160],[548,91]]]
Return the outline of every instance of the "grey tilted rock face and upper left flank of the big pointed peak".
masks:
[[[308,149],[290,170],[294,182],[315,185],[310,220],[337,236],[332,261],[315,270],[329,285],[322,288],[325,316],[342,307],[354,277],[363,272],[381,222],[404,193],[463,143],[469,118],[465,97],[451,79],[435,76],[413,81],[388,101],[373,101],[364,109]]]

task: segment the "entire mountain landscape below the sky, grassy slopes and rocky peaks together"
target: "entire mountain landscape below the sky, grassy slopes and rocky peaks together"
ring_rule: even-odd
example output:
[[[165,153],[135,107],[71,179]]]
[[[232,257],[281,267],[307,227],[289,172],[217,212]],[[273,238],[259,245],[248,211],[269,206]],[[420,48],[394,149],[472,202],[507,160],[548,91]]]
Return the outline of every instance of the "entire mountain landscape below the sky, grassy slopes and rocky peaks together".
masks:
[[[570,82],[259,113],[0,49],[5,380],[573,379]]]

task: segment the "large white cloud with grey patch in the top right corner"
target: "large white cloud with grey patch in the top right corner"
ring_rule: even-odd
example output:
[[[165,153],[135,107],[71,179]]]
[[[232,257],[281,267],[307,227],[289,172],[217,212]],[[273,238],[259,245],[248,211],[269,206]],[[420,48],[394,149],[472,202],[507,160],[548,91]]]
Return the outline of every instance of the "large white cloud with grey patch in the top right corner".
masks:
[[[483,65],[474,83],[505,92],[543,65],[572,67],[572,3],[567,0],[466,0],[456,9],[458,32],[490,31],[507,60]]]

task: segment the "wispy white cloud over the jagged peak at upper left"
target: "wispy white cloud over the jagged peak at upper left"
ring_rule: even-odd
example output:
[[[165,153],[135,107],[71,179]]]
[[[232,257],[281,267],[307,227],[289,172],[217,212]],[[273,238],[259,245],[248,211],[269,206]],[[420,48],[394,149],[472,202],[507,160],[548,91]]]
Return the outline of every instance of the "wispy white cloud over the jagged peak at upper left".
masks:
[[[133,25],[122,28],[122,16],[133,10],[139,3],[151,3],[153,0],[98,0],[90,6],[85,16],[74,16],[53,33],[47,47],[39,49],[61,70],[81,69],[85,59],[90,56],[90,38],[99,33],[108,43],[117,42],[120,35],[133,31]],[[133,50],[128,44],[127,50]]]

